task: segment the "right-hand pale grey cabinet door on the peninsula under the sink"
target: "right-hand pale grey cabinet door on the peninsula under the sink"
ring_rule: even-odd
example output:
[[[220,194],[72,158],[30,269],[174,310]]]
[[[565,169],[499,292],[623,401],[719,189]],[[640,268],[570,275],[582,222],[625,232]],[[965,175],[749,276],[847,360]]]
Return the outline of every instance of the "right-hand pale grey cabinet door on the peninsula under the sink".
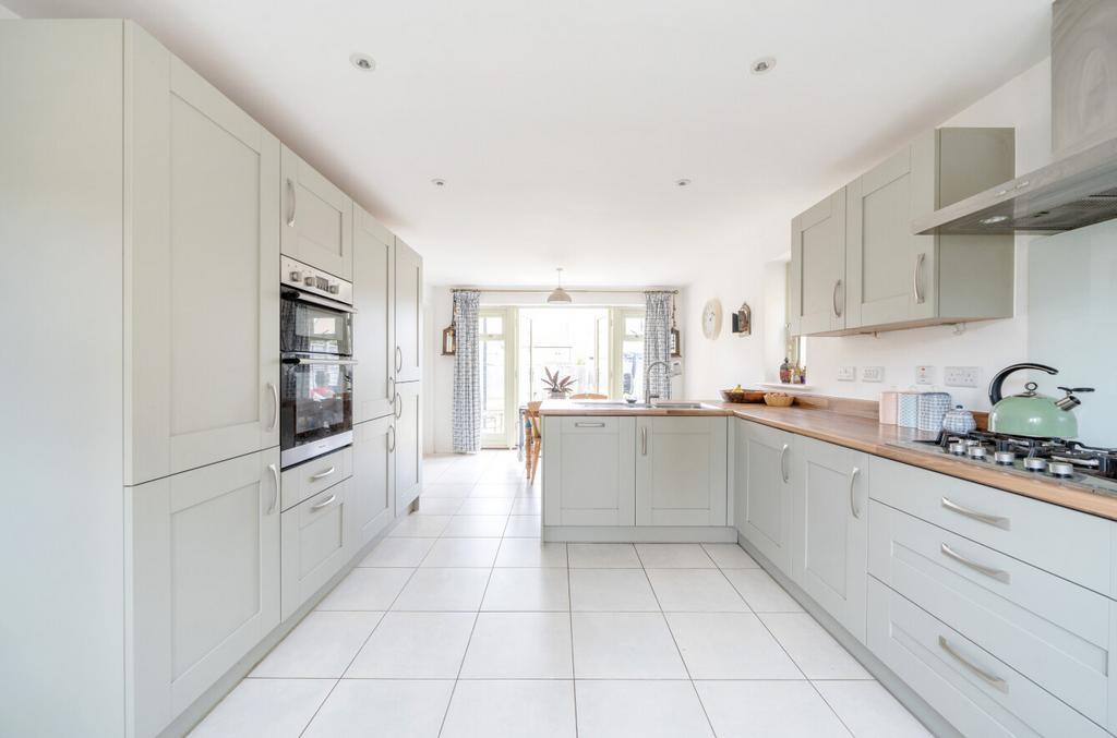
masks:
[[[727,525],[726,422],[725,418],[637,419],[637,525]]]

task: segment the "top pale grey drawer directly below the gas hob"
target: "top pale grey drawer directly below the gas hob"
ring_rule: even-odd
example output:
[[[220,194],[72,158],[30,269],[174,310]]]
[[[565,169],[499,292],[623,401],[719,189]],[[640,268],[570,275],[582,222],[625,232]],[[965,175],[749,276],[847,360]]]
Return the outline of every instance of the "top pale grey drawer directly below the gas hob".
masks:
[[[1109,520],[879,457],[869,466],[873,499],[1109,593]]]

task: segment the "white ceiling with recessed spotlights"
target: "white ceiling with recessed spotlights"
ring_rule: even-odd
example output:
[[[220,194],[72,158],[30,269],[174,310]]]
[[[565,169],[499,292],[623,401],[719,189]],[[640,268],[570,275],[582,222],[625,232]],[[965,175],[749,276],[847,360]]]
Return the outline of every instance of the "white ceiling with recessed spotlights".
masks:
[[[1046,56],[1050,13],[1050,0],[0,2],[136,19],[420,250],[429,282],[484,286],[546,284],[556,266],[567,285],[682,285],[780,253],[794,213]],[[775,69],[750,74],[764,55]]]

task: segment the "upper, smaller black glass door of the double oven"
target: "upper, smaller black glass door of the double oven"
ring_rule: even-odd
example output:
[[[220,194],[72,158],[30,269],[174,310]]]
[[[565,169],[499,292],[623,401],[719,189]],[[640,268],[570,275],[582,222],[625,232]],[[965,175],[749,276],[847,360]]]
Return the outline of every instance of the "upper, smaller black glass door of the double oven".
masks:
[[[353,355],[353,308],[285,288],[279,314],[279,351],[286,354]]]

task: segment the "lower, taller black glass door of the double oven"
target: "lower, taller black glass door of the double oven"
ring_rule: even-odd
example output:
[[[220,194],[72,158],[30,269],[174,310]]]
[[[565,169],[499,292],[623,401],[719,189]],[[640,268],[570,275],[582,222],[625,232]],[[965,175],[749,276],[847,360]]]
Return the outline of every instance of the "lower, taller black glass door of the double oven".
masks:
[[[353,365],[346,358],[283,357],[280,464],[286,468],[353,442]]]

